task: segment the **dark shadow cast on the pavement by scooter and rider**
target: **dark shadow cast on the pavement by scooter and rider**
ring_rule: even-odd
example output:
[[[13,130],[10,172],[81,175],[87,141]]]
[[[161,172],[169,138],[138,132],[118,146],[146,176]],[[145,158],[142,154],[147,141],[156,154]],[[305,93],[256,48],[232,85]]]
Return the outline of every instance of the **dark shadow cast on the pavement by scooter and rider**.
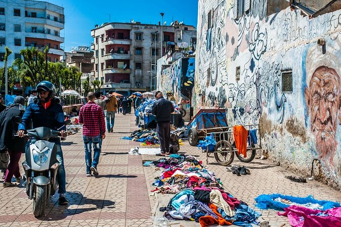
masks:
[[[68,216],[82,214],[88,211],[100,210],[103,208],[115,208],[115,202],[110,200],[92,199],[83,196],[81,192],[71,191],[66,193],[69,201],[67,206],[58,205],[58,196],[52,198],[55,207],[46,216],[37,219],[44,221],[56,221],[67,218]],[[82,208],[84,206],[84,208]],[[98,212],[98,215],[100,212]],[[86,213],[84,215],[87,215]]]

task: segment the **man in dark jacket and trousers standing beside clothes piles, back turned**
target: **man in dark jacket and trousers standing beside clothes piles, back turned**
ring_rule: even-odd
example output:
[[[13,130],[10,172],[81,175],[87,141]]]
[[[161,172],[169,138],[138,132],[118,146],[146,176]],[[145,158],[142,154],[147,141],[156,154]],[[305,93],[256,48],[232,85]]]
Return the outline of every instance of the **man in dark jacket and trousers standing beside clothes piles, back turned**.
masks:
[[[156,101],[154,102],[151,113],[156,116],[156,133],[158,134],[161,156],[169,155],[170,144],[170,122],[171,113],[174,112],[173,104],[164,98],[162,92],[155,93]]]

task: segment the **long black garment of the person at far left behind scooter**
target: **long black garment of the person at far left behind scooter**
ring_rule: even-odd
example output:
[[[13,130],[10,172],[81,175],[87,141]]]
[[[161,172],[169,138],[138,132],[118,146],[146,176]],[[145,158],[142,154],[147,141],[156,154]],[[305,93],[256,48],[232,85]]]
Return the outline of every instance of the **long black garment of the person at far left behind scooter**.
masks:
[[[20,110],[19,104],[7,107],[0,114],[0,152],[11,150],[15,152],[24,152],[27,138],[14,137],[18,131],[18,124],[15,123],[15,117],[22,117],[23,110]]]

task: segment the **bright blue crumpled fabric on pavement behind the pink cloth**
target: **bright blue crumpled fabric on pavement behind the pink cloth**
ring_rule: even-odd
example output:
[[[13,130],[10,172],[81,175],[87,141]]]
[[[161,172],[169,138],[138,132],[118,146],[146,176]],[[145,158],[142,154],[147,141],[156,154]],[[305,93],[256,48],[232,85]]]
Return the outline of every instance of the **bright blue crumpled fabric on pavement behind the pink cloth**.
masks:
[[[283,194],[261,194],[256,197],[254,200],[256,201],[256,207],[259,209],[274,209],[274,210],[284,210],[284,208],[290,207],[290,204],[284,204],[281,202],[274,201],[276,198],[282,198],[284,200],[291,201],[293,203],[298,204],[319,204],[323,206],[323,210],[332,209],[336,207],[340,207],[340,204],[333,201],[326,200],[315,200],[312,195],[308,195],[307,197],[295,197],[291,195],[283,195]]]

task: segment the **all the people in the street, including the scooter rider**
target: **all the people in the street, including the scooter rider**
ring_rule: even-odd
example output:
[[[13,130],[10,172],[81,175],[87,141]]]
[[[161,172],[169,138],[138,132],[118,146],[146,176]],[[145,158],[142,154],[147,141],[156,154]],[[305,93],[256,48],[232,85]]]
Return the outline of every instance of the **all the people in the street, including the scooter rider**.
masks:
[[[83,124],[83,142],[85,150],[86,176],[97,176],[97,165],[101,152],[102,140],[106,138],[106,132],[112,133],[115,122],[115,114],[129,114],[144,101],[142,97],[118,97],[113,91],[105,96],[100,92],[89,92],[87,103],[79,111],[76,108],[72,112],[79,115],[79,122]],[[174,107],[169,100],[163,98],[161,92],[156,92],[153,114],[158,121],[158,137],[161,144],[161,155],[169,154],[170,136],[170,113]],[[66,136],[65,115],[60,99],[56,97],[56,89],[53,83],[42,81],[35,90],[31,91],[28,105],[25,107],[25,99],[17,96],[14,102],[8,106],[0,104],[0,155],[7,154],[7,163],[4,174],[3,187],[14,187],[18,184],[12,183],[13,176],[20,183],[22,176],[19,170],[19,160],[22,153],[28,152],[30,144],[36,143],[36,139],[28,139],[25,135],[28,129],[47,127],[59,131],[60,137]],[[0,103],[2,96],[0,95]],[[20,123],[15,119],[20,117]],[[107,124],[106,124],[107,121]],[[50,138],[57,148],[57,160],[59,162],[57,171],[59,204],[67,204],[66,177],[64,158],[60,137]],[[92,157],[93,149],[93,157]],[[1,167],[1,166],[0,166]]]

